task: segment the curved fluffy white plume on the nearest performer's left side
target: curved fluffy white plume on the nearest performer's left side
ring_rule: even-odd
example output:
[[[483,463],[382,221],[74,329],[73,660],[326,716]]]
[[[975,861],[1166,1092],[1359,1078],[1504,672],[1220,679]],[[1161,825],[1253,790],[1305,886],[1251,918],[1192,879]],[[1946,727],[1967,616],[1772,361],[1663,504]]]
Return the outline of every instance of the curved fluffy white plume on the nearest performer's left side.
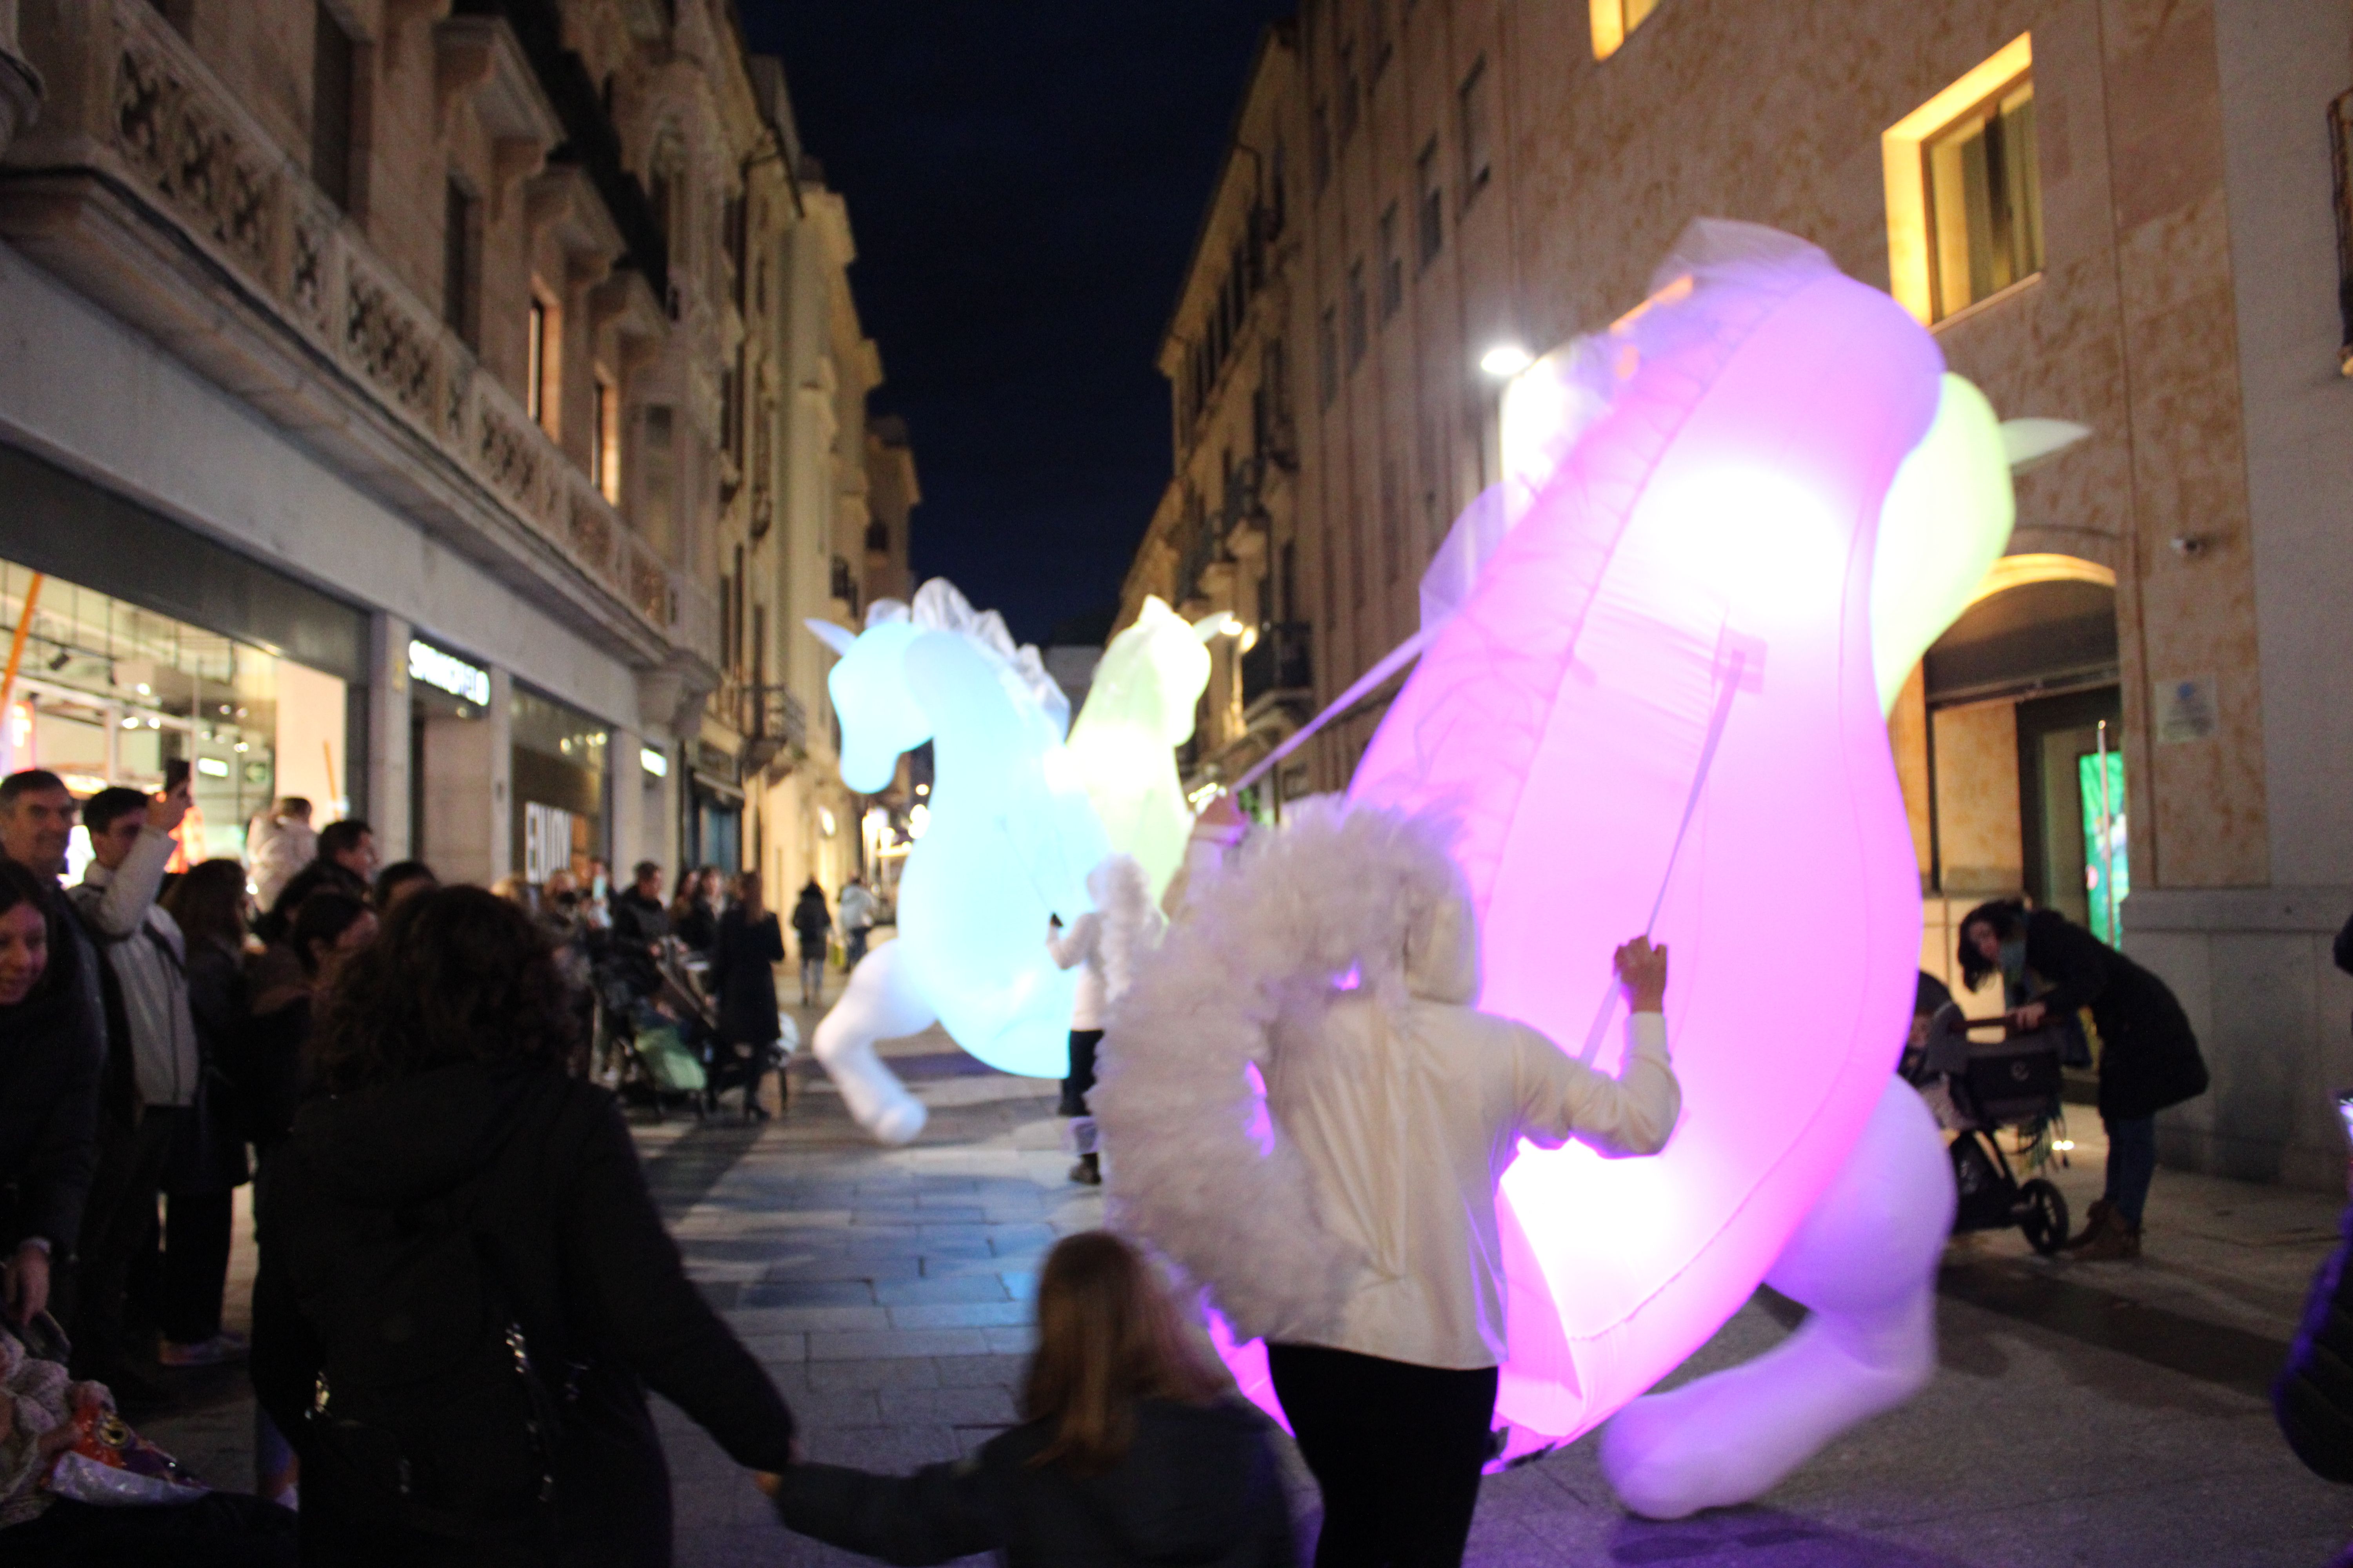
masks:
[[[1111,1218],[1207,1286],[1235,1338],[1339,1328],[1362,1260],[1325,1229],[1259,1084],[1341,976],[1402,1004],[1407,933],[1459,886],[1447,839],[1431,818],[1311,804],[1195,879],[1160,947],[1129,959],[1092,1095]]]

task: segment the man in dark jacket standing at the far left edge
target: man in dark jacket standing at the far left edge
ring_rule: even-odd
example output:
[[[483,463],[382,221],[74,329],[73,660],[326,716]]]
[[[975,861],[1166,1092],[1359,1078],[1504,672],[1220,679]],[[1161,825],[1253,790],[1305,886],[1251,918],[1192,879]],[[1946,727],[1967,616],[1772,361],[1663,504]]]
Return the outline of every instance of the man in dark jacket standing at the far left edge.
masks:
[[[49,1309],[52,1260],[73,1255],[96,1168],[106,1058],[96,954],[56,886],[73,816],[56,773],[0,780],[0,860],[16,898],[40,907],[47,950],[33,992],[0,1009],[0,1309],[16,1321]]]

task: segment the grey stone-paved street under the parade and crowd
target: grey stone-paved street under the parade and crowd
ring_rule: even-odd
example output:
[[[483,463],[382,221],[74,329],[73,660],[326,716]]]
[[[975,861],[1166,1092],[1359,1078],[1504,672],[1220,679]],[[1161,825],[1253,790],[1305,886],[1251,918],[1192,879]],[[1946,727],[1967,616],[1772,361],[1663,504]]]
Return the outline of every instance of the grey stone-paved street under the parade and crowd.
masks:
[[[689,1269],[791,1399],[809,1453],[906,1469],[1014,1420],[1038,1262],[1096,1225],[1101,1199],[1066,1182],[1049,1084],[991,1074],[939,1037],[894,1060],[932,1107],[906,1150],[861,1138],[807,1063],[769,1124],[673,1114],[640,1138]],[[2059,1180],[2080,1213],[2101,1147],[2078,1138]],[[2167,1171],[2139,1265],[1960,1239],[1937,1382],[1762,1505],[1626,1519],[1586,1439],[1489,1479],[1471,1561],[2313,1568],[2353,1537],[2353,1490],[2297,1467],[2264,1387],[2334,1213],[2327,1197]],[[1748,1359],[1795,1319],[1760,1293],[1680,1375]],[[235,1373],[188,1392],[191,1408],[151,1429],[200,1474],[242,1483],[252,1415]],[[854,1561],[786,1535],[699,1429],[666,1406],[659,1420],[685,1568]],[[1311,1537],[1315,1490],[1297,1465],[1294,1481]]]

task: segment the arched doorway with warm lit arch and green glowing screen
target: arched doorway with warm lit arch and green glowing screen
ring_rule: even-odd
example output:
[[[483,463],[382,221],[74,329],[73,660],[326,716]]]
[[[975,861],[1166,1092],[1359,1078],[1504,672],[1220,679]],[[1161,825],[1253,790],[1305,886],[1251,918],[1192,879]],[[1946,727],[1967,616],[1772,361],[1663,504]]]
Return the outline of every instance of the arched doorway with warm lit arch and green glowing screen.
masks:
[[[2026,896],[2115,940],[2129,891],[2115,574],[2002,557],[1920,661],[1918,701],[1927,755],[1906,783],[1927,795],[1920,870],[1946,947],[1932,969],[1951,969],[1948,924],[1984,898]]]

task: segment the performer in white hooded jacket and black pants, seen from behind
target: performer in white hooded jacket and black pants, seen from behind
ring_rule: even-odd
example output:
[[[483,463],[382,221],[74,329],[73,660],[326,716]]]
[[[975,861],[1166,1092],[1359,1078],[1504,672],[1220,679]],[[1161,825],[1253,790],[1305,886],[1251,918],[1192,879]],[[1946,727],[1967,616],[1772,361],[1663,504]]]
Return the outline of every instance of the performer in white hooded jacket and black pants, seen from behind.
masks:
[[[1365,1258],[1339,1328],[1268,1347],[1275,1394],[1325,1497],[1315,1561],[1459,1563],[1489,1458],[1504,1359],[1494,1192],[1520,1140],[1657,1154],[1682,1107],[1666,1056],[1666,947],[1617,950],[1633,1020],[1624,1072],[1480,1013],[1468,903],[1407,938],[1402,1009],[1332,1004],[1285,1039],[1268,1107],[1325,1225]]]

